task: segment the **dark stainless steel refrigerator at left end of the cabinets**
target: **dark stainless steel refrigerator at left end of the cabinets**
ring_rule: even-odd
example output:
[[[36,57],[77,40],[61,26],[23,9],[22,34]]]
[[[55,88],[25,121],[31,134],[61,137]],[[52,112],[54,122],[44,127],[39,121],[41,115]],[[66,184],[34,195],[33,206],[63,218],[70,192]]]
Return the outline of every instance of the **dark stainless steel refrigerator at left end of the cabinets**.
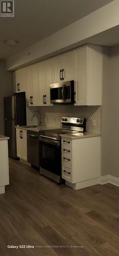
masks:
[[[9,156],[17,158],[16,155],[16,125],[26,125],[26,94],[15,93],[11,97],[4,98],[5,112],[5,135],[10,137],[8,140]]]

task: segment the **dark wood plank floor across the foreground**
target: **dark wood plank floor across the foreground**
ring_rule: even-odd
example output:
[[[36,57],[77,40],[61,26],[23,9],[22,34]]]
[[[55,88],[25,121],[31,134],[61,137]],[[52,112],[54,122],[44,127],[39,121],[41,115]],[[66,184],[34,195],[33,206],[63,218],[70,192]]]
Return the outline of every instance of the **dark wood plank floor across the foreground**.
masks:
[[[0,195],[0,255],[119,255],[119,187],[76,191],[24,163],[9,163],[10,185]]]

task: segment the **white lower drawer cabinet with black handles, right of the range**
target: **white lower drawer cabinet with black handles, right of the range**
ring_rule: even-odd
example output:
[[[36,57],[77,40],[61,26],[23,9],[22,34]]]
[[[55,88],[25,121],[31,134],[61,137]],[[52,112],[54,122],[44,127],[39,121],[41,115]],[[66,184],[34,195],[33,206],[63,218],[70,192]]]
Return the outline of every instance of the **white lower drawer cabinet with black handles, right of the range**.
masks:
[[[80,183],[101,176],[101,138],[62,138],[62,178]]]

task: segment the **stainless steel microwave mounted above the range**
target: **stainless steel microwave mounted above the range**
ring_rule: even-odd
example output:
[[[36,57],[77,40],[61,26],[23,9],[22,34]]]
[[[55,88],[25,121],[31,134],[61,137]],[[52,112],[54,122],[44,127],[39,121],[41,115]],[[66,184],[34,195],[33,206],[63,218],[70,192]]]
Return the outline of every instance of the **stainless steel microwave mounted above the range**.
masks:
[[[50,84],[50,97],[53,104],[74,104],[74,80]]]

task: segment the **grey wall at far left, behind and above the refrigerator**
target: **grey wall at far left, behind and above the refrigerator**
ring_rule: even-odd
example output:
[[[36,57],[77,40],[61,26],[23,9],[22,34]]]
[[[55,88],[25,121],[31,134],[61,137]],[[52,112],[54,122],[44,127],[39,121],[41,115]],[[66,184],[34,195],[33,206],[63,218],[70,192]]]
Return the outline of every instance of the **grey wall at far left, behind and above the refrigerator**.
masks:
[[[0,134],[4,135],[4,97],[13,93],[12,73],[6,71],[6,62],[0,61]]]

